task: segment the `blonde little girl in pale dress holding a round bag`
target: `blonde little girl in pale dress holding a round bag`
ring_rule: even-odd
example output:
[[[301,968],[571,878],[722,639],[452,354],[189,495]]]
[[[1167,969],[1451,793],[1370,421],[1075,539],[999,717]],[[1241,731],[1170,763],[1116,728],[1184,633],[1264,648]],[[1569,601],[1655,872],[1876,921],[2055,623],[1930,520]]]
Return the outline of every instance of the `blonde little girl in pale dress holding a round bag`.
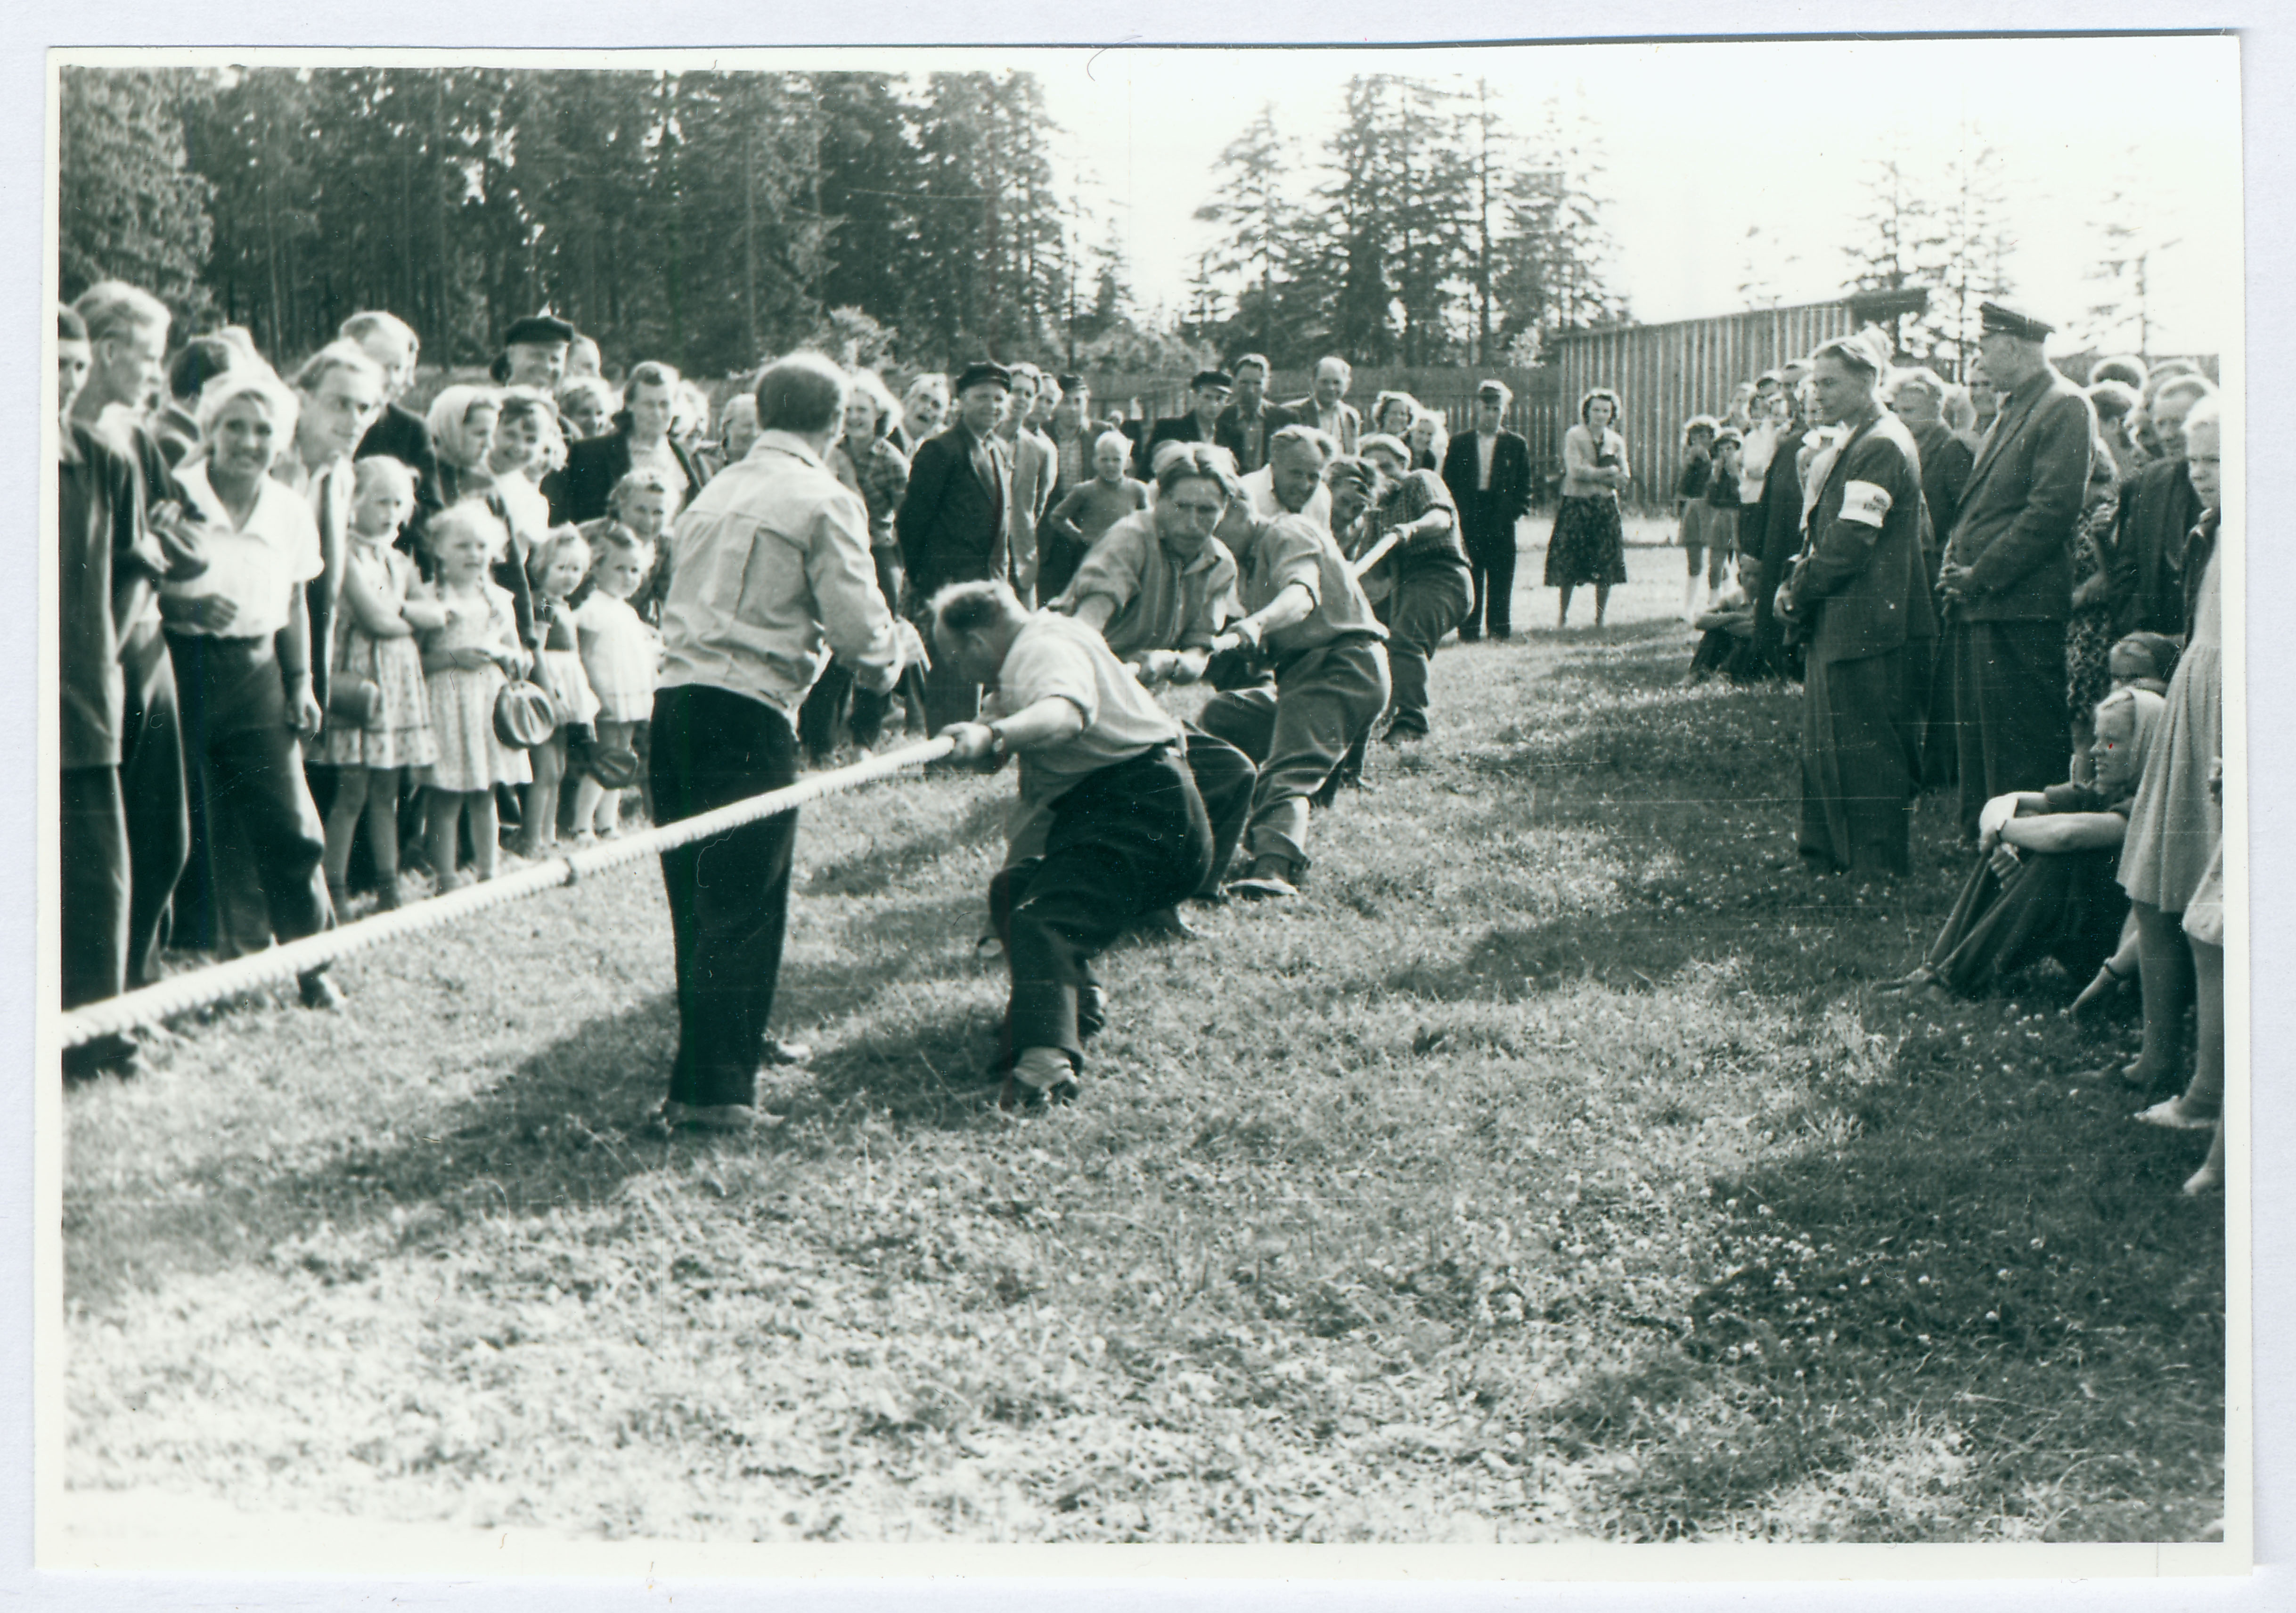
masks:
[[[471,820],[478,878],[494,878],[503,832],[494,786],[526,784],[533,767],[526,751],[494,735],[494,696],[510,673],[526,671],[510,591],[487,577],[510,533],[484,505],[457,503],[432,517],[427,540],[445,620],[422,634],[422,676],[439,742],[422,834],[443,894],[468,885],[457,869],[464,816]]]

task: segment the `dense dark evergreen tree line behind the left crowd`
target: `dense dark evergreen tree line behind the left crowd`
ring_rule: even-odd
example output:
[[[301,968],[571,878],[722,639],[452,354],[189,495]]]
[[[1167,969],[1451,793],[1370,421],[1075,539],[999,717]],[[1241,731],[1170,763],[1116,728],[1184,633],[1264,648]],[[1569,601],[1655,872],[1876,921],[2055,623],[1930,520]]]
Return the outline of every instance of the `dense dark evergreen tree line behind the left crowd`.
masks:
[[[388,308],[475,363],[544,306],[696,375],[1035,356],[1127,324],[1107,264],[1079,306],[1052,133],[1031,74],[76,67],[62,290],[280,356]]]

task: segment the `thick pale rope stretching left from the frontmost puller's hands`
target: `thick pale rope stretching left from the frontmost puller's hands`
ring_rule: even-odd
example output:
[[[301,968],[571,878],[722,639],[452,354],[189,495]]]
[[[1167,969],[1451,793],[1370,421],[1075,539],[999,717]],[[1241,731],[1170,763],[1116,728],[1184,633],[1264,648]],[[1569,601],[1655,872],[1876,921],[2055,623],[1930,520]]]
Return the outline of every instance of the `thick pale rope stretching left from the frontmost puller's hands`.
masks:
[[[103,1002],[90,1002],[62,1016],[64,1045],[78,1048],[96,1036],[117,1036],[135,1029],[138,1025],[156,1025],[174,1018],[177,1013],[191,1013],[193,1009],[204,1009],[211,1002],[239,997],[257,986],[294,979],[296,974],[317,970],[321,963],[347,958],[354,951],[436,931],[445,924],[457,924],[473,912],[484,912],[487,908],[523,901],[560,885],[576,885],[592,873],[618,869],[625,862],[657,857],[677,846],[691,846],[693,841],[709,839],[712,834],[758,823],[760,818],[776,818],[785,811],[797,811],[806,802],[824,795],[838,795],[861,784],[891,779],[907,767],[921,767],[930,761],[939,761],[941,756],[948,756],[948,749],[951,742],[946,738],[905,744],[898,751],[870,756],[868,761],[859,761],[852,767],[838,767],[836,772],[813,774],[810,779],[799,779],[788,788],[751,795],[748,800],[705,811],[696,818],[682,818],[680,823],[666,823],[654,829],[618,836],[604,846],[588,846],[558,857],[544,857],[542,862],[519,869],[517,873],[505,873],[482,885],[466,885],[459,892],[432,896],[429,901],[400,908],[397,912],[377,912],[356,924],[340,924],[331,931],[305,935],[298,942],[287,942],[285,947],[250,951],[248,956],[232,958],[230,963],[172,974],[156,986],[122,993],[119,997],[106,997]]]

